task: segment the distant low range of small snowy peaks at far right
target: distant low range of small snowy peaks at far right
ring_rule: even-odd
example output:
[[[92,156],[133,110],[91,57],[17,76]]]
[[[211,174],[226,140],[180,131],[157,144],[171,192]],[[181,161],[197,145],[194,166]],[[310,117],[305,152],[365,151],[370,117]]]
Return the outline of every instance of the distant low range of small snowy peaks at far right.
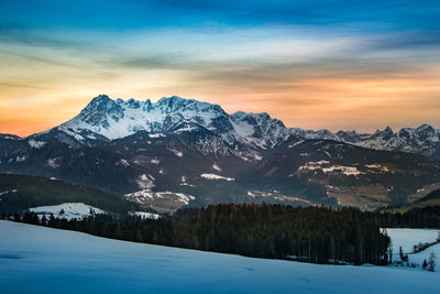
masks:
[[[429,124],[404,128],[398,132],[386,127],[383,131],[377,130],[372,134],[355,131],[332,133],[328,130],[307,131],[301,129],[290,129],[290,131],[293,134],[307,139],[333,140],[367,149],[418,153],[440,159],[440,130],[436,130]]]

